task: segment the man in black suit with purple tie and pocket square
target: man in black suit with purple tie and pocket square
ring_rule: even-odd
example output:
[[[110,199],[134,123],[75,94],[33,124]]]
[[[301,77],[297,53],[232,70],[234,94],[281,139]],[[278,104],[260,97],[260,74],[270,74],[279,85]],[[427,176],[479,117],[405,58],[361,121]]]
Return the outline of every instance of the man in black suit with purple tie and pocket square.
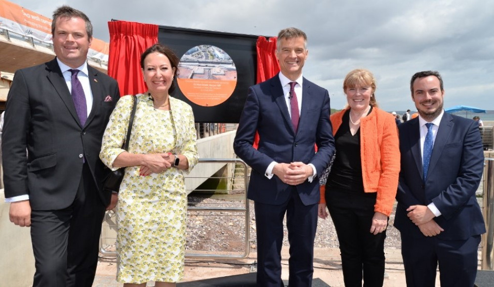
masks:
[[[90,287],[105,209],[116,203],[102,190],[98,155],[120,94],[115,80],[87,65],[92,25],[84,13],[58,8],[52,34],[56,58],[18,70],[8,93],[5,198],[10,221],[31,226],[33,286]]]

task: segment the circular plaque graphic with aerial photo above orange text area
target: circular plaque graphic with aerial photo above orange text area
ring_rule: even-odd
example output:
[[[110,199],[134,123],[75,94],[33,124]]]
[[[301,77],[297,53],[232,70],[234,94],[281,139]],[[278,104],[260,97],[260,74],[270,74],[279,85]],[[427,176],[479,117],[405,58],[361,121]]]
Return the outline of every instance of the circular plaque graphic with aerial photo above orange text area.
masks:
[[[226,101],[237,85],[237,69],[232,58],[212,45],[189,49],[178,64],[178,87],[191,102],[216,106]]]

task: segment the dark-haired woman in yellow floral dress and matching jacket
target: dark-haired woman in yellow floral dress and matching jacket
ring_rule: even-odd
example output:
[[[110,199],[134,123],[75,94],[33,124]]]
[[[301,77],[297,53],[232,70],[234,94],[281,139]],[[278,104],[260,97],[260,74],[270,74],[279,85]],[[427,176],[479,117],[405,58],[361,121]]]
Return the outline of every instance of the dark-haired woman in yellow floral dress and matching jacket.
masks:
[[[183,278],[187,193],[184,174],[198,162],[192,108],[169,93],[178,58],[155,44],[141,56],[148,92],[138,94],[128,152],[132,97],[122,97],[103,136],[100,158],[126,166],[117,205],[117,280],[124,287],[175,286]]]

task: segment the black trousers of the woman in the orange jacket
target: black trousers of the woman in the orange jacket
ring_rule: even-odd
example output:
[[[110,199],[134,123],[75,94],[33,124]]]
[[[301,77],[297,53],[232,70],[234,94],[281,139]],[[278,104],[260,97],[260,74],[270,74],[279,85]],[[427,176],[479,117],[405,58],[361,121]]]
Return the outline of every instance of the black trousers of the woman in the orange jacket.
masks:
[[[338,235],[346,287],[382,287],[386,232],[371,230],[376,193],[326,188],[326,204]]]

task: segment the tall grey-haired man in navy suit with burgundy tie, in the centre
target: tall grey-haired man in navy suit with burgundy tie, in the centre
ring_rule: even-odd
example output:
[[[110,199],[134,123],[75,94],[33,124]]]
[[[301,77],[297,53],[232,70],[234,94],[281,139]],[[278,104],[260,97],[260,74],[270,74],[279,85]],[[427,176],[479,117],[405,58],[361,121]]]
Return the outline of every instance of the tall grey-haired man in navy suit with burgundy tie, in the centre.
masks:
[[[319,178],[334,153],[328,91],[302,77],[307,36],[278,34],[281,73],[251,86],[233,147],[250,167],[254,201],[257,286],[280,287],[283,218],[290,244],[289,286],[312,286]],[[256,130],[258,149],[252,147]],[[314,144],[318,146],[315,153]]]

